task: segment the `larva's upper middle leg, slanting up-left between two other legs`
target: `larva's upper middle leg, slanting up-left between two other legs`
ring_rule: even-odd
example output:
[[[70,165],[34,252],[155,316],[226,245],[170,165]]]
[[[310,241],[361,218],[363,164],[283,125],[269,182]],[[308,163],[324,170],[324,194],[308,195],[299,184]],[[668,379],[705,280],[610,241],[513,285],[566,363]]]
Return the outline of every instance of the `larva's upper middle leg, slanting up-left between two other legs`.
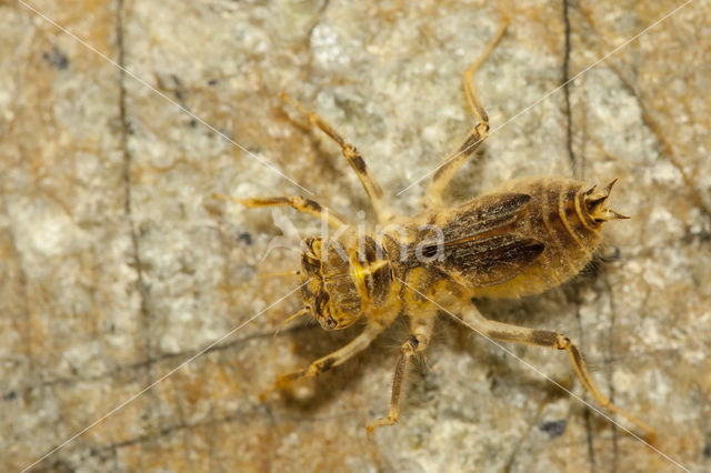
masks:
[[[375,210],[375,214],[378,215],[378,220],[380,222],[389,221],[394,212],[391,210],[390,205],[385,202],[385,198],[383,195],[382,189],[375,178],[370,173],[370,170],[365,165],[365,161],[360,155],[358,149],[348,142],[343,137],[341,137],[330,124],[328,124],[321,117],[313,113],[312,111],[306,109],[300,103],[293,101],[289,95],[282,93],[282,98],[291,103],[293,107],[299,109],[299,111],[306,114],[309,118],[309,121],[320,128],[326,134],[328,134],[336,143],[341,147],[341,151],[343,157],[348,160],[348,163],[351,165],[356,174],[358,174],[358,179],[360,179],[360,183],[365,189],[368,197],[370,199],[373,209]]]

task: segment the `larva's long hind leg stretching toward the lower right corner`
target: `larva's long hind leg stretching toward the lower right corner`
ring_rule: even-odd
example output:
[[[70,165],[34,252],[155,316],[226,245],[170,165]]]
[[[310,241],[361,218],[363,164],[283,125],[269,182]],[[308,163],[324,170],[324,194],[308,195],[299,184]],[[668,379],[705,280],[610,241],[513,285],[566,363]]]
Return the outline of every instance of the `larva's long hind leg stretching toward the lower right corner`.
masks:
[[[612,404],[608,396],[602,394],[598,385],[592,380],[590,372],[585,368],[585,363],[582,360],[580,351],[574,344],[571,343],[568,336],[547,330],[528,329],[524,326],[511,325],[508,323],[489,320],[481,315],[481,313],[471,305],[465,311],[463,311],[461,321],[463,321],[465,325],[473,328],[475,331],[501,342],[523,343],[555,350],[565,350],[565,352],[568,352],[568,356],[570,358],[570,362],[575,370],[575,374],[578,374],[578,378],[582,382],[582,385],[594,397],[598,404],[618,415],[625,417],[628,421],[642,430],[650,442],[653,441],[655,435],[654,429],[652,429],[645,422],[637,419],[629,412],[625,412],[617,405]]]

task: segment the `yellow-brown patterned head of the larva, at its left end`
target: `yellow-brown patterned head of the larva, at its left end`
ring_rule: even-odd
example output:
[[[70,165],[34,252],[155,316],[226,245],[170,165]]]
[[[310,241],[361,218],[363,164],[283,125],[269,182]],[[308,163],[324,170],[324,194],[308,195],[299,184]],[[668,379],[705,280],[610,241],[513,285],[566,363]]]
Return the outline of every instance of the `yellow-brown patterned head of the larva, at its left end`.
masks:
[[[304,309],[323,330],[346,329],[360,318],[361,300],[340,242],[308,238],[301,246]]]

